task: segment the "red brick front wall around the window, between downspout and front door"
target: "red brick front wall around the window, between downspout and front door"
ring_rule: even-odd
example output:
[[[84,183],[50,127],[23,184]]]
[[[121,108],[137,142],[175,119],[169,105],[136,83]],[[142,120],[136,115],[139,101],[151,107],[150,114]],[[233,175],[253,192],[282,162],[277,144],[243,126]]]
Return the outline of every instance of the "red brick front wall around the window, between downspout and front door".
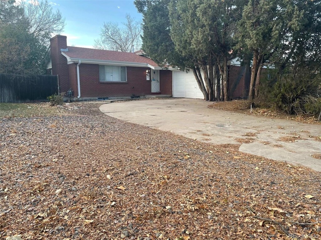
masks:
[[[151,94],[151,81],[146,80],[147,69],[150,68],[127,67],[127,82],[100,82],[99,65],[82,63],[79,66],[81,98]]]

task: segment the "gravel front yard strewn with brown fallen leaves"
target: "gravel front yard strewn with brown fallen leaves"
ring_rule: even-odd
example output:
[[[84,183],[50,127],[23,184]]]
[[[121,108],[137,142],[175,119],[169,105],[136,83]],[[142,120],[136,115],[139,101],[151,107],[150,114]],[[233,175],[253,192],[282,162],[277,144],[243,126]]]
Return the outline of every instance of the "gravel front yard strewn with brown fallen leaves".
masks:
[[[319,173],[65,108],[0,121],[2,239],[321,238]]]

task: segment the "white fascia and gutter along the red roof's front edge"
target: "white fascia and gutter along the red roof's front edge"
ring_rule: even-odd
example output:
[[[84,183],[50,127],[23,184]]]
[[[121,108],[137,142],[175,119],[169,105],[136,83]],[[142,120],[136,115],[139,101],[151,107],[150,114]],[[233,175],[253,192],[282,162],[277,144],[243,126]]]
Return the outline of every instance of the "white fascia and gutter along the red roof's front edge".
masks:
[[[82,63],[114,65],[114,66],[129,66],[129,67],[148,67],[154,70],[162,69],[160,67],[154,67],[148,63],[143,63],[143,62],[126,62],[126,61],[112,61],[112,60],[99,60],[99,59],[71,58],[67,56],[64,52],[61,52],[61,54],[67,58],[68,64],[78,63],[79,60],[81,60]]]

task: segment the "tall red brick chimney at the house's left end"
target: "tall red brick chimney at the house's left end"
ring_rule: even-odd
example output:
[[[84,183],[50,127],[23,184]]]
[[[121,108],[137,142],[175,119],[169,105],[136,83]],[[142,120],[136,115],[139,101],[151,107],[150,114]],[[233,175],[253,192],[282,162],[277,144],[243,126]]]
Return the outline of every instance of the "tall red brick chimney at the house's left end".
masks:
[[[56,35],[50,39],[52,74],[58,75],[60,92],[67,92],[69,90],[67,59],[61,54],[60,50],[66,48],[67,36]]]

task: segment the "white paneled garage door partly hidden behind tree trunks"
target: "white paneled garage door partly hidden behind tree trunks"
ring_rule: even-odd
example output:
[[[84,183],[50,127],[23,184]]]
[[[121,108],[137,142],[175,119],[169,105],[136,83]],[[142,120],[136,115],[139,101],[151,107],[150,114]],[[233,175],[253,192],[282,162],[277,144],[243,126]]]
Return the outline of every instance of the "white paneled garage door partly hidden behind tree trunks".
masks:
[[[173,73],[174,98],[204,98],[193,72],[175,71]]]

